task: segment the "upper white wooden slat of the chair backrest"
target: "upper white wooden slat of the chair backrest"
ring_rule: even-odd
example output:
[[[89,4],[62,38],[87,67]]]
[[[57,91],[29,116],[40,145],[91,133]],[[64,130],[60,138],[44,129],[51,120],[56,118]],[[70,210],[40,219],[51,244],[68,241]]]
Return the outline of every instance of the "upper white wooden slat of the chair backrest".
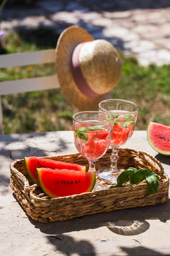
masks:
[[[24,52],[0,55],[0,68],[18,67],[34,64],[51,63],[55,61],[55,50]]]

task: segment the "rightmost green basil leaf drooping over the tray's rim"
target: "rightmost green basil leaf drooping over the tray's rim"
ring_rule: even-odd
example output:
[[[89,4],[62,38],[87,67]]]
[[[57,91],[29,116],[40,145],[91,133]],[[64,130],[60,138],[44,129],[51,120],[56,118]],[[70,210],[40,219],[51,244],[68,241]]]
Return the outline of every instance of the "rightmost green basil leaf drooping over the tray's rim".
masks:
[[[146,183],[149,186],[147,194],[155,194],[159,189],[159,176],[156,173],[150,173],[145,177]]]

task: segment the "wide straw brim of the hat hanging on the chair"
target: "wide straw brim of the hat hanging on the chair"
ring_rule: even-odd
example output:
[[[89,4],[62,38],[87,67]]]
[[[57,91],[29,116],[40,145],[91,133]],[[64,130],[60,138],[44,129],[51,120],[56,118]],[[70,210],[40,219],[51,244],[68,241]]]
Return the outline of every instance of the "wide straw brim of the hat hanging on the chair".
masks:
[[[111,93],[89,98],[77,87],[71,74],[70,60],[73,49],[81,43],[93,41],[94,38],[84,29],[71,26],[60,35],[56,47],[56,68],[61,91],[78,110],[98,110],[99,102],[110,98]]]

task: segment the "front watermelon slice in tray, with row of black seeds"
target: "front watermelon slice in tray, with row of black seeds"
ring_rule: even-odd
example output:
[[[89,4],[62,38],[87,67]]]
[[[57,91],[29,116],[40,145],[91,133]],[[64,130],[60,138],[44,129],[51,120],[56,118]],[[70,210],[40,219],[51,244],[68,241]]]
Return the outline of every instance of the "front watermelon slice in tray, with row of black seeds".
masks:
[[[49,198],[91,192],[96,182],[95,172],[67,169],[37,168],[37,177],[40,187]]]

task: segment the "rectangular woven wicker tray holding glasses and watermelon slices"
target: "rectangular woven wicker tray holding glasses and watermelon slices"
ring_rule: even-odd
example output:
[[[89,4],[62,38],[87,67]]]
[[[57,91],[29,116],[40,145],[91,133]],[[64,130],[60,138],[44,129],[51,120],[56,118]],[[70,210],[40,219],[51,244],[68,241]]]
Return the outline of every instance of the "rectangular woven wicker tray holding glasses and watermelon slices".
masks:
[[[96,169],[101,166],[110,165],[111,149],[96,162]],[[88,161],[80,154],[69,154],[56,157],[45,157],[70,163],[78,163],[88,167]],[[34,184],[26,174],[24,161],[15,160],[10,165],[11,189],[16,195],[26,213],[32,219],[40,222],[66,221],[74,217],[95,214],[97,212],[110,212],[117,209],[139,207],[145,205],[161,204],[168,200],[169,177],[164,173],[161,163],[144,151],[130,148],[119,149],[118,167],[126,169],[128,166],[139,168],[150,168],[159,175],[159,190],[148,195],[145,191],[147,184],[105,189],[50,199],[39,186]],[[97,183],[110,184],[96,179]]]

